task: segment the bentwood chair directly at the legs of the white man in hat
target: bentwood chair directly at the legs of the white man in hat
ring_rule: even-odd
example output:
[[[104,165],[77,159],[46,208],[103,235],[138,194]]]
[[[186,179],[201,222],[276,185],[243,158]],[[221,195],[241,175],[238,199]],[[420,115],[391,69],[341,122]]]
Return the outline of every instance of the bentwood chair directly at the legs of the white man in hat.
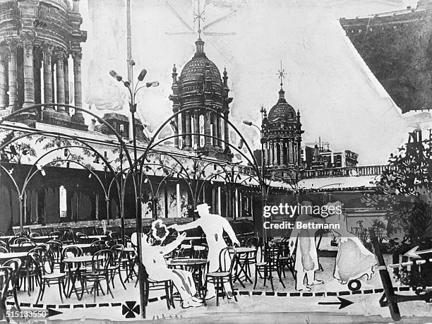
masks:
[[[232,247],[222,248],[219,254],[219,269],[215,272],[208,272],[205,275],[204,289],[208,292],[208,283],[215,285],[216,291],[216,306],[219,306],[219,292],[221,292],[223,298],[225,298],[225,284],[229,283],[231,290],[234,294],[234,287],[232,280],[234,278],[234,266],[236,264],[236,251]],[[234,299],[237,301],[236,294]]]

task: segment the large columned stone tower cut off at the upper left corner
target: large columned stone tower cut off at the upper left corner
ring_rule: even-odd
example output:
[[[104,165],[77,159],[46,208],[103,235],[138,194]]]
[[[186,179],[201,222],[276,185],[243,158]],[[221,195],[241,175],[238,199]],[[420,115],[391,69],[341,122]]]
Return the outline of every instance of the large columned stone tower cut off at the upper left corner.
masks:
[[[10,0],[0,2],[0,114],[32,104],[58,103],[81,107],[81,47],[79,1]],[[73,93],[69,88],[72,57]],[[83,114],[67,107],[45,106],[20,121],[36,121],[87,129]]]

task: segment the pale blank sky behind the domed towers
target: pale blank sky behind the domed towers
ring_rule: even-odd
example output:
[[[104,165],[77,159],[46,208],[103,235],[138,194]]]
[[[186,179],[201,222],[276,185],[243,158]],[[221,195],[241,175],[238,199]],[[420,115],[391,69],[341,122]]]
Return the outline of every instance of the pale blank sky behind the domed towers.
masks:
[[[419,118],[430,115],[402,116],[337,19],[399,10],[409,2],[201,0],[203,25],[208,25],[201,26],[205,53],[221,73],[224,67],[228,72],[234,97],[230,120],[258,148],[258,131],[242,121],[259,125],[261,105],[269,111],[276,104],[282,61],[285,97],[300,111],[303,143],[320,138],[334,150],[359,153],[360,164],[384,164]],[[197,6],[198,0],[131,0],[135,76],[146,68],[145,80],[160,82],[138,95],[138,112],[150,131],[172,114],[172,66],[180,73],[195,52]],[[126,0],[81,0],[80,12],[82,29],[88,31],[82,44],[83,104],[100,115],[122,106],[128,114],[127,90],[109,76],[112,69],[127,75]],[[234,133],[232,140],[238,141]]]

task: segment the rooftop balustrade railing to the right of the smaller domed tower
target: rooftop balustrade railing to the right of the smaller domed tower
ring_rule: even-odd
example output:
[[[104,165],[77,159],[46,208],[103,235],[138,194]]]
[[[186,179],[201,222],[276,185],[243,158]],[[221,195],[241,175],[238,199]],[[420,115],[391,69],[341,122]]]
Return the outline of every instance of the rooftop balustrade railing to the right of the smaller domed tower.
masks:
[[[328,178],[332,176],[376,176],[382,174],[388,165],[364,165],[361,167],[335,167],[301,171],[301,179]]]

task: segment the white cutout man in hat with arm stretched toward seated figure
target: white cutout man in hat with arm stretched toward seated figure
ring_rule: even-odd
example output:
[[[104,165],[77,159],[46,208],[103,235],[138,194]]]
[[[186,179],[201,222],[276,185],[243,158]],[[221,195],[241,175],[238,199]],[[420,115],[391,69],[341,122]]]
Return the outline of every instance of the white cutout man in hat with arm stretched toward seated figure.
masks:
[[[232,244],[240,246],[239,240],[236,238],[236,234],[231,227],[231,224],[222,216],[217,214],[210,214],[210,206],[206,203],[196,206],[195,212],[198,212],[200,218],[194,220],[188,224],[178,225],[173,224],[170,227],[175,229],[177,232],[186,231],[186,229],[193,229],[196,227],[201,227],[205,234],[205,239],[208,245],[208,260],[209,260],[209,272],[215,272],[219,269],[219,255],[223,248],[227,247],[227,243],[224,240],[224,231],[227,232],[229,239],[231,239]],[[227,292],[227,297],[232,298],[232,291],[229,284],[225,285],[225,292]],[[216,296],[215,286],[213,284],[208,284],[208,292],[205,299],[212,299]]]

